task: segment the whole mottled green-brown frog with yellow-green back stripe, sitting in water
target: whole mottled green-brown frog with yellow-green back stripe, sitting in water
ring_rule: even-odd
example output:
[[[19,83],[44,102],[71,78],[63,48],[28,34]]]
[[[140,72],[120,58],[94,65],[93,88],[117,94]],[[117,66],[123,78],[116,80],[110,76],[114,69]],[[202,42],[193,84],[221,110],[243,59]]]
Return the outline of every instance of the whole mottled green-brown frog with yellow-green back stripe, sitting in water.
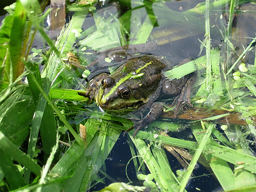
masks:
[[[169,69],[167,65],[163,57],[145,55],[129,58],[113,74],[95,76],[88,84],[84,96],[95,100],[100,108],[111,113],[122,114],[145,104],[150,106],[148,114],[129,129],[136,129],[135,136],[141,127],[163,113],[163,105],[155,102],[161,93],[176,97],[173,101],[173,104],[177,104],[175,115],[185,103],[192,106],[189,95],[195,78],[185,76],[169,81],[163,74],[164,70]]]

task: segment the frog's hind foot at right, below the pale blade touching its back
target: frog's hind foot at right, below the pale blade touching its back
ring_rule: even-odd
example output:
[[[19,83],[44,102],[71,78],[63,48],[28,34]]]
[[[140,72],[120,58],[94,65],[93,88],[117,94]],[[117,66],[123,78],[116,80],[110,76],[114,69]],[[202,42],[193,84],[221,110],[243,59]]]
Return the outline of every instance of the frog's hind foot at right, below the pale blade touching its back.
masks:
[[[181,109],[184,105],[188,104],[189,106],[193,107],[193,104],[190,102],[190,93],[193,84],[196,81],[196,76],[192,76],[188,79],[185,86],[182,88],[180,95],[178,95],[172,102],[172,106],[176,104],[174,118],[176,118],[179,109]]]

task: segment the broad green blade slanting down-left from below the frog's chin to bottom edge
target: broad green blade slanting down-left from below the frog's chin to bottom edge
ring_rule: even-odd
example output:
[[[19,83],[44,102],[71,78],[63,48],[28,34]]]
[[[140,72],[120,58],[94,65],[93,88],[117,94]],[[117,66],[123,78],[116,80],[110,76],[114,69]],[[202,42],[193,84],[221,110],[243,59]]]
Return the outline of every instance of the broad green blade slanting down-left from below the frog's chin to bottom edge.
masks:
[[[90,129],[95,130],[95,127],[99,127],[100,132],[95,134],[77,161],[78,166],[74,168],[73,177],[64,184],[63,189],[67,191],[86,191],[89,189],[91,182],[97,178],[99,169],[120,135],[119,130],[111,127],[106,121],[99,122],[90,119],[85,126],[88,132]]]

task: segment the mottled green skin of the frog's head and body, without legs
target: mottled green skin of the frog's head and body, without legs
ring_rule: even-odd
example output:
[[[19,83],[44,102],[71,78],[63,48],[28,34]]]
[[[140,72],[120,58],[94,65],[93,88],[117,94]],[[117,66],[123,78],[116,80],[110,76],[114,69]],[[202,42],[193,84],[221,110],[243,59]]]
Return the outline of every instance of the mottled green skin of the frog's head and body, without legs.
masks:
[[[163,62],[153,56],[128,60],[108,77],[115,83],[100,87],[95,99],[97,104],[107,111],[133,111],[156,100],[161,92],[162,72],[165,67]],[[124,89],[131,92],[130,97],[122,97]]]

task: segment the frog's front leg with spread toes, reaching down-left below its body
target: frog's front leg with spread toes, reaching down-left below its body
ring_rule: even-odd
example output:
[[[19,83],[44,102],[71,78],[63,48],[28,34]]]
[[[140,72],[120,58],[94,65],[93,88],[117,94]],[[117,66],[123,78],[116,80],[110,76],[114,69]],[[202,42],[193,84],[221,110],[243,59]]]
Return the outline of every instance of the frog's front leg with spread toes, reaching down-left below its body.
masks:
[[[124,136],[125,136],[126,132],[131,131],[132,129],[135,129],[134,134],[133,134],[133,138],[135,138],[137,132],[142,127],[145,127],[148,124],[150,124],[151,122],[153,122],[154,120],[156,120],[156,118],[158,118],[162,113],[163,113],[163,105],[159,102],[154,102],[152,104],[152,107],[151,107],[150,111],[148,112],[148,114],[143,119],[136,122],[136,124],[134,124],[132,127],[127,129],[124,132]]]

